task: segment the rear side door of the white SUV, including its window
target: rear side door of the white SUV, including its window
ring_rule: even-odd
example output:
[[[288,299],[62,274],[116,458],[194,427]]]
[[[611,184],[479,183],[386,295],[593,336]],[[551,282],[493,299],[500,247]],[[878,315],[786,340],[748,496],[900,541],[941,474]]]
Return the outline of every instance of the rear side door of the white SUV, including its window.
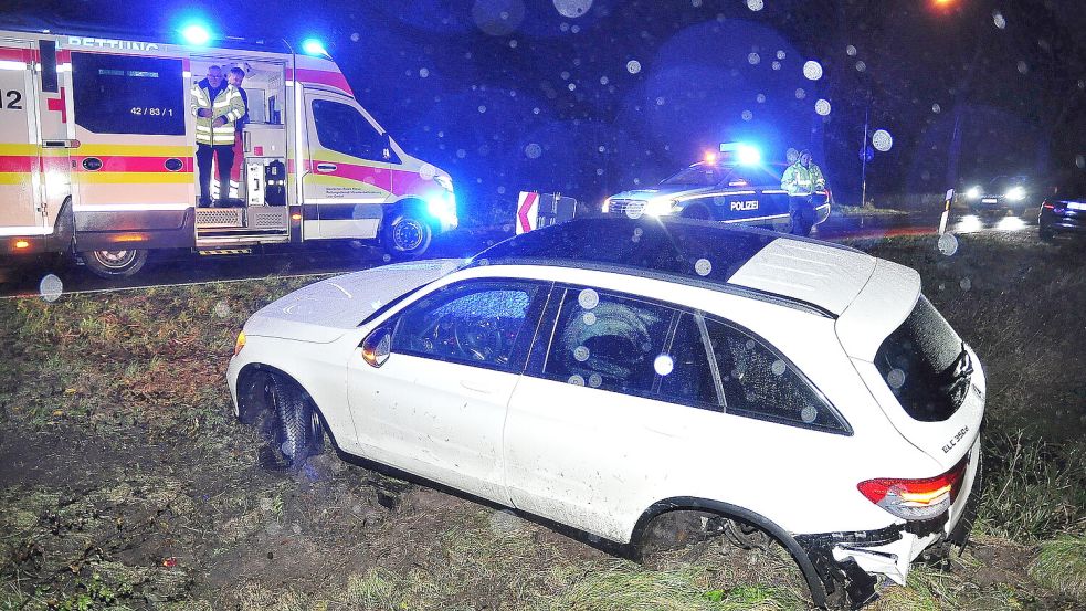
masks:
[[[688,408],[658,394],[677,312],[581,287],[551,303],[542,327],[553,333],[540,333],[509,403],[509,495],[519,509],[621,540],[668,478],[658,456],[681,455],[696,431]]]

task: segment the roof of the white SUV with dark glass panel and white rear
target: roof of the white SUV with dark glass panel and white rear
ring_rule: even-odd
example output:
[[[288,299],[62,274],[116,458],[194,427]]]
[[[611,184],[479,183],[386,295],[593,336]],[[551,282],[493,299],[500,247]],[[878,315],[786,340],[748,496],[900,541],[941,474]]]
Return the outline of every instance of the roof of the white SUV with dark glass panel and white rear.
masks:
[[[510,238],[468,266],[593,268],[703,286],[835,318],[875,259],[855,249],[689,219],[579,218]]]

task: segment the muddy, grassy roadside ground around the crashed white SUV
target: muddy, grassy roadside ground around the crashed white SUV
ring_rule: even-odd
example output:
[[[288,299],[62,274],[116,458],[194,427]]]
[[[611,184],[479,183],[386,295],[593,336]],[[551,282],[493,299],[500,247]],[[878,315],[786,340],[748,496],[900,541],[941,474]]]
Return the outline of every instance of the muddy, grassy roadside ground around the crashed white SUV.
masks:
[[[1086,530],[1086,384],[1066,366],[1086,356],[1084,244],[854,243],[920,270],[990,380],[992,477],[973,545],[917,565],[875,609],[1086,608],[1035,565],[1046,540]],[[303,283],[0,302],[0,609],[810,605],[779,550],[711,541],[650,570],[330,447],[272,468],[233,420],[223,371],[247,315]]]

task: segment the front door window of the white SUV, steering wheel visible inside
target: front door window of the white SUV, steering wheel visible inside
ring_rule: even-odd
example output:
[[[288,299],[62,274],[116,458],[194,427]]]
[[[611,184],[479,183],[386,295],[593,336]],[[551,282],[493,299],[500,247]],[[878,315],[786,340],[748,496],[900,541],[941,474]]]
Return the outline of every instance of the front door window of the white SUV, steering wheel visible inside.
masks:
[[[519,372],[538,292],[531,283],[489,281],[439,289],[400,313],[392,351]]]

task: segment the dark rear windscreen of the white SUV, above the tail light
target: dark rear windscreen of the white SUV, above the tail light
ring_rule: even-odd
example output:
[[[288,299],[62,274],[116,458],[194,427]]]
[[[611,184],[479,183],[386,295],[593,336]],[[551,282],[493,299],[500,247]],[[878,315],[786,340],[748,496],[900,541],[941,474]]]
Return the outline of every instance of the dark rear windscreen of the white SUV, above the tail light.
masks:
[[[879,346],[875,367],[905,411],[922,422],[958,411],[973,372],[961,338],[924,295]]]

